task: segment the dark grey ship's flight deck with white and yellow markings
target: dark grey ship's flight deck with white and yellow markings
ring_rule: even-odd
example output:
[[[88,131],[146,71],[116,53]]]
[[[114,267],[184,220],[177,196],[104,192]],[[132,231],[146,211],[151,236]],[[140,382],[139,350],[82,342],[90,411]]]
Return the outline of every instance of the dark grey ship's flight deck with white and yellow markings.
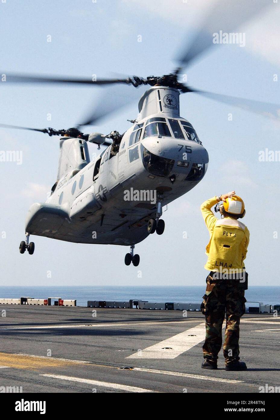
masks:
[[[241,318],[248,370],[201,368],[205,318],[195,311],[0,306],[0,386],[18,392],[236,392],[280,387],[280,318]],[[5,310],[3,316],[3,310]],[[223,330],[224,331],[224,330]]]

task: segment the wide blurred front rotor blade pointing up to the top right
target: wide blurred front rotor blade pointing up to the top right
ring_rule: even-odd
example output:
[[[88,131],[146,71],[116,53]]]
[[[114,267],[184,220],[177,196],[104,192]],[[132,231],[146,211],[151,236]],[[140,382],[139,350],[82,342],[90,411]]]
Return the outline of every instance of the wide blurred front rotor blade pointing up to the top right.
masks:
[[[221,33],[232,34],[233,30],[270,4],[271,0],[219,0],[201,22],[187,50],[185,47],[181,48],[177,57],[180,68],[188,66],[213,46],[214,34],[218,34],[219,37]]]

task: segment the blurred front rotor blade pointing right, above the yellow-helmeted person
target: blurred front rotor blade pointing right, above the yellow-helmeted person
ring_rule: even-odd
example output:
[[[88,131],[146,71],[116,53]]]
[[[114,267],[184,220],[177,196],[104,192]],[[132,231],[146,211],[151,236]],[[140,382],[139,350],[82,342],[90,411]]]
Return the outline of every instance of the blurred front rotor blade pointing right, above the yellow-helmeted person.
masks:
[[[220,95],[218,93],[206,92],[204,90],[193,90],[193,92],[198,93],[199,95],[203,95],[209,99],[233,105],[246,111],[251,111],[263,115],[265,117],[274,117],[277,119],[280,118],[280,105],[277,104],[238,98],[228,95]]]

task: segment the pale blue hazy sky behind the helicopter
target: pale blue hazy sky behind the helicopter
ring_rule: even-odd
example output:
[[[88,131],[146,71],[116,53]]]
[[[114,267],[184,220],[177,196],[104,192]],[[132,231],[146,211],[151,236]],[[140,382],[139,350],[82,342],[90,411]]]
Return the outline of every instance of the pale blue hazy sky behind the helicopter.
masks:
[[[187,68],[190,86],[280,103],[280,2],[259,1],[268,3],[263,12],[235,29],[246,35],[245,46],[213,44]],[[212,5],[210,0],[0,0],[0,73],[87,78],[167,74],[176,68],[178,51],[190,44]],[[226,31],[223,24],[219,30]],[[128,98],[138,96],[135,88],[125,88]],[[91,86],[1,82],[0,123],[67,128],[110,95],[107,88]],[[137,116],[137,101],[127,102],[87,132],[128,129],[127,119]],[[31,237],[34,255],[21,255],[18,246],[25,239],[27,210],[34,202],[44,202],[56,181],[59,140],[0,129],[0,151],[22,152],[21,165],[0,162],[0,284],[204,285],[209,234],[200,205],[235,190],[244,199],[242,221],[250,231],[245,260],[249,284],[279,285],[280,162],[260,162],[259,155],[266,149],[274,154],[280,150],[280,120],[194,93],[181,95],[180,111],[209,153],[208,170],[192,191],[168,205],[162,217],[164,234],[150,235],[136,245],[138,267],[124,265],[129,247],[72,244],[39,236]],[[90,144],[89,150],[92,154],[96,147]]]

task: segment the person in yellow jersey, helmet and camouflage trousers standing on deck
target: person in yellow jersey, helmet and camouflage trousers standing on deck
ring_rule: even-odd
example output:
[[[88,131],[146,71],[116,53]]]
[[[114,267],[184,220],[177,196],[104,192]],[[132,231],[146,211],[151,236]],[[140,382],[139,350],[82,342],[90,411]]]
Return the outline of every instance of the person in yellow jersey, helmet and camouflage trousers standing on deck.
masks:
[[[211,211],[214,205],[215,210],[221,213],[221,219]],[[244,291],[248,278],[244,259],[249,244],[249,230],[238,220],[245,215],[244,202],[232,191],[210,198],[202,203],[200,209],[210,234],[206,247],[208,260],[204,266],[210,273],[206,278],[206,293],[201,304],[206,321],[202,368],[217,369],[226,312],[223,344],[226,370],[246,370],[246,363],[239,361],[239,323],[245,313]]]

